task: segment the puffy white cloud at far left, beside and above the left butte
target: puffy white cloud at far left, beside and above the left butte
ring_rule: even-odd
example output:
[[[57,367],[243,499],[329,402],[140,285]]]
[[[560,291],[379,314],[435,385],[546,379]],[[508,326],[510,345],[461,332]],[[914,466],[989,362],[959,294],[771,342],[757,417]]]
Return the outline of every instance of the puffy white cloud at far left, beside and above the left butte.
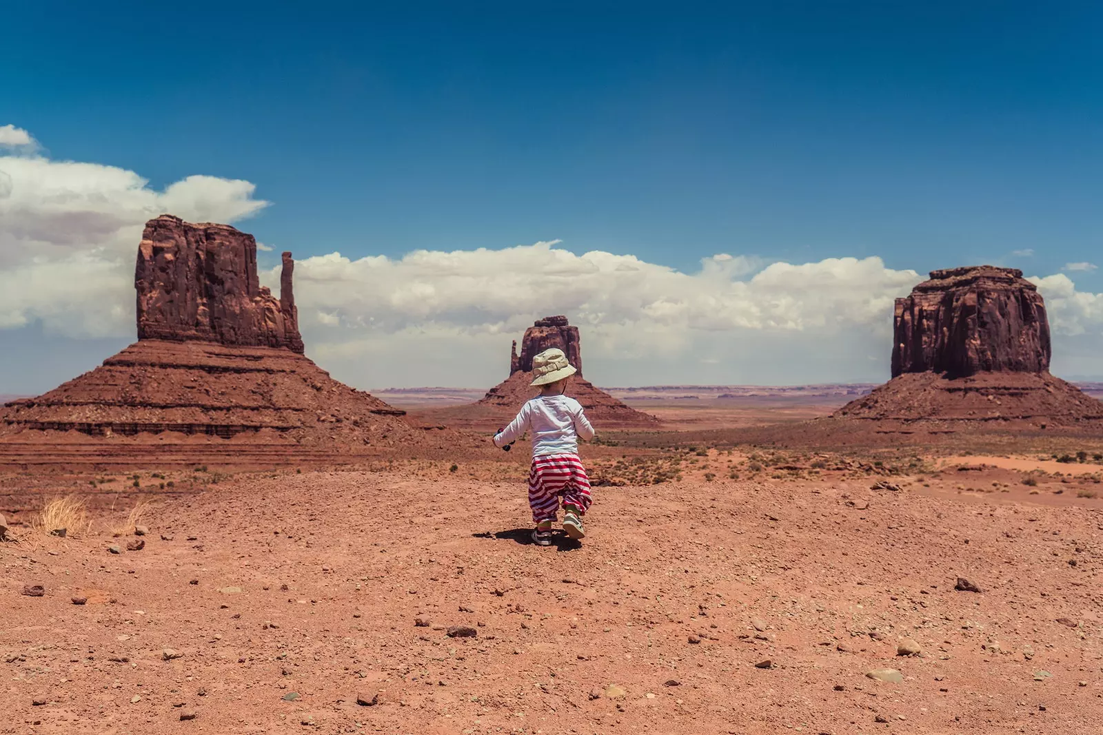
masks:
[[[12,132],[14,131],[14,132]],[[0,128],[0,141],[32,141]],[[35,322],[69,337],[133,334],[142,225],[171,213],[231,223],[266,202],[247,181],[189,176],[157,191],[116,166],[0,154],[0,328]]]

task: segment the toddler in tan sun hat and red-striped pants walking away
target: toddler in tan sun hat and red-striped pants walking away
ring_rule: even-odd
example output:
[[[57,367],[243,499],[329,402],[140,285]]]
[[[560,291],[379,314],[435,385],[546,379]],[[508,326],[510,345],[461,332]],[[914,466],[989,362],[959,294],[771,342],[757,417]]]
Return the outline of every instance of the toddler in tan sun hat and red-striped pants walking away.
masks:
[[[531,385],[540,394],[527,401],[517,418],[494,436],[494,444],[505,446],[526,429],[533,432],[533,467],[528,472],[528,506],[533,509],[533,541],[542,547],[552,543],[552,523],[563,498],[563,530],[572,539],[586,536],[582,516],[590,507],[590,480],[578,458],[578,437],[593,439],[593,426],[582,413],[582,406],[564,396],[567,379],[577,372],[561,349],[553,347],[533,358]]]

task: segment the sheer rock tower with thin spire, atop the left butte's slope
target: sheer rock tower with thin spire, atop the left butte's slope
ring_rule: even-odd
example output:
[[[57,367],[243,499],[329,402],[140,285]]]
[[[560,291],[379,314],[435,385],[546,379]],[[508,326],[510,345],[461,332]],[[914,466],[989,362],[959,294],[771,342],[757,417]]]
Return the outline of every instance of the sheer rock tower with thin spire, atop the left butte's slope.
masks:
[[[285,252],[276,299],[260,285],[251,235],[172,215],[150,219],[135,267],[138,338],[282,347],[301,354],[293,270],[291,253]]]

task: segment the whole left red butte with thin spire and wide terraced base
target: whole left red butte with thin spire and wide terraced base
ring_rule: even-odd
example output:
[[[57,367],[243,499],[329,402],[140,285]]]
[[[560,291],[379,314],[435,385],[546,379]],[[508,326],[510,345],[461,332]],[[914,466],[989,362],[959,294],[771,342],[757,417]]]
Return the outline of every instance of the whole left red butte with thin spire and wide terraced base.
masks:
[[[403,411],[338,382],[303,355],[293,267],[285,252],[276,299],[259,284],[251,235],[170,215],[151,219],[135,269],[138,342],[0,410],[0,464],[46,461],[51,452],[61,457],[66,443],[83,444],[72,456],[107,462],[110,452],[96,446],[118,447],[124,437],[133,451],[142,442],[228,439],[239,445],[235,453],[269,458],[287,457],[288,447],[329,456],[460,441],[413,425]],[[51,452],[34,448],[44,443]]]

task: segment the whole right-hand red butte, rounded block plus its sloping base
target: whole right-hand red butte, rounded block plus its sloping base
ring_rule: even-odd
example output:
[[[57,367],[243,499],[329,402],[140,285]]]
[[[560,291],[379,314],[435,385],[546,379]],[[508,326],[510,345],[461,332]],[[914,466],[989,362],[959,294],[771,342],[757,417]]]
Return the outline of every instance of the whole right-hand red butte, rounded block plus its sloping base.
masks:
[[[932,271],[897,299],[893,335],[892,379],[834,418],[1036,429],[1103,420],[1103,403],[1049,374],[1046,305],[1020,270]]]

